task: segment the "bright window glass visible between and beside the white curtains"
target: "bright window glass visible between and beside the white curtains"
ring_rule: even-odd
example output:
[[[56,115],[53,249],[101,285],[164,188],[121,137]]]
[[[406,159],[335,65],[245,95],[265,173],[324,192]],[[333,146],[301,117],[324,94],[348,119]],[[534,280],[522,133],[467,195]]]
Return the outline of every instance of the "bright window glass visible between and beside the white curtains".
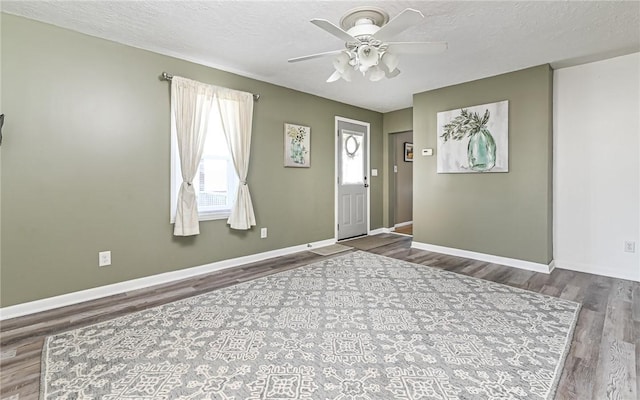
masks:
[[[238,176],[222,130],[218,109],[209,117],[200,166],[193,180],[198,197],[198,220],[228,218],[236,199]],[[180,156],[175,132],[171,132],[171,222],[176,219],[178,190],[182,184]]]

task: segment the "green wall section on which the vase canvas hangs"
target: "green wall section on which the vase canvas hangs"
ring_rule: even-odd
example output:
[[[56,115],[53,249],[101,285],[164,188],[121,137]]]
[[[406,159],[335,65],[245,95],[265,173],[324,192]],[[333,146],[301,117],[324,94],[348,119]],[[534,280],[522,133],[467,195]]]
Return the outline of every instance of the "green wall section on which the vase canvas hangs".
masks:
[[[437,174],[437,155],[415,158],[414,241],[551,262],[552,79],[543,65],[414,95],[415,154],[436,149],[438,112],[509,100],[508,173]]]

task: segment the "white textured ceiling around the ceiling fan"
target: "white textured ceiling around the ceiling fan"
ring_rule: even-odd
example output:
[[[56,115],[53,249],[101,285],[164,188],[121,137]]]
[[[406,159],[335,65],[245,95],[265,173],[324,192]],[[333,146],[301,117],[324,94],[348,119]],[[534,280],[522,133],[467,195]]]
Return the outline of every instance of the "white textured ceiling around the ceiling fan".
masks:
[[[551,63],[564,67],[640,51],[638,1],[6,1],[2,11],[387,112],[412,95]],[[426,16],[396,41],[447,41],[432,56],[401,55],[391,80],[325,83],[330,58],[287,59],[344,44],[309,23],[336,25],[372,5],[391,18],[407,7]],[[158,73],[162,71],[158,70]],[[167,71],[173,72],[173,71]]]

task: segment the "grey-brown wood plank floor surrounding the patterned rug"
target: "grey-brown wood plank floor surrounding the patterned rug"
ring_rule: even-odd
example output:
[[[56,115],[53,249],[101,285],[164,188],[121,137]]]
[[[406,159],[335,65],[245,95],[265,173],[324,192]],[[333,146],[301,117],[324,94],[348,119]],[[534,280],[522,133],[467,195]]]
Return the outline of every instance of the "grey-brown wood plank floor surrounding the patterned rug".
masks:
[[[411,238],[382,234],[368,251],[582,303],[556,399],[640,395],[640,283],[556,269],[550,275],[411,249]],[[393,240],[390,241],[389,238]],[[355,251],[355,250],[354,250]],[[344,253],[343,253],[344,254]],[[15,318],[0,327],[0,400],[37,399],[46,335],[104,321],[326,257],[277,257],[180,282]]]

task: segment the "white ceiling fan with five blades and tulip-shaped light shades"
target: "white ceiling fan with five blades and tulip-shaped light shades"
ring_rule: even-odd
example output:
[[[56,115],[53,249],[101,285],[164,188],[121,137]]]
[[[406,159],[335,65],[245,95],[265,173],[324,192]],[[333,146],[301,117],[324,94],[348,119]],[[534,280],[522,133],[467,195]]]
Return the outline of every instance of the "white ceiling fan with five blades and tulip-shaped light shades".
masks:
[[[314,58],[336,56],[334,73],[327,82],[342,78],[350,82],[353,72],[360,71],[371,81],[398,76],[396,54],[438,54],[447,49],[447,42],[388,42],[391,37],[417,24],[424,15],[407,8],[389,20],[389,14],[377,7],[358,7],[347,11],[337,26],[326,19],[312,19],[311,23],[345,41],[346,50],[334,50],[308,56],[290,58],[299,62]]]

